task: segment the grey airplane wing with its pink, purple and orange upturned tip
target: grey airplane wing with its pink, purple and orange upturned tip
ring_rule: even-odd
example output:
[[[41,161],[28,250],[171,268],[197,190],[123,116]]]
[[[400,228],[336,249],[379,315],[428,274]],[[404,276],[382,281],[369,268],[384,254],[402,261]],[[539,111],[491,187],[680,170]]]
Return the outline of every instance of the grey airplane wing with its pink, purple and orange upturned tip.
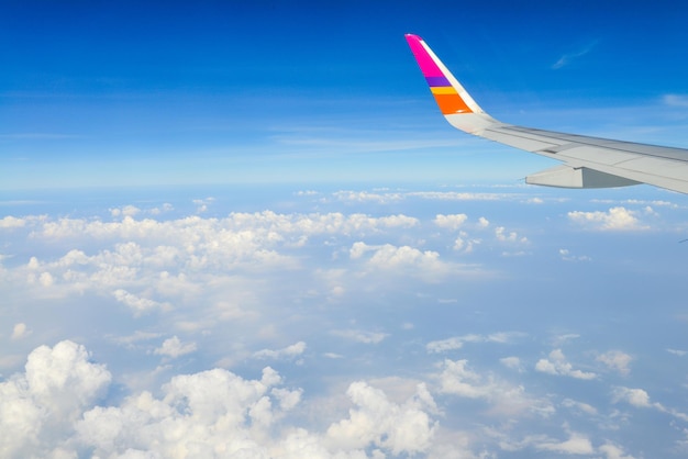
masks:
[[[450,124],[468,134],[564,163],[526,177],[526,183],[561,188],[650,183],[688,193],[688,149],[501,123],[480,109],[420,36],[408,34],[406,38]]]

